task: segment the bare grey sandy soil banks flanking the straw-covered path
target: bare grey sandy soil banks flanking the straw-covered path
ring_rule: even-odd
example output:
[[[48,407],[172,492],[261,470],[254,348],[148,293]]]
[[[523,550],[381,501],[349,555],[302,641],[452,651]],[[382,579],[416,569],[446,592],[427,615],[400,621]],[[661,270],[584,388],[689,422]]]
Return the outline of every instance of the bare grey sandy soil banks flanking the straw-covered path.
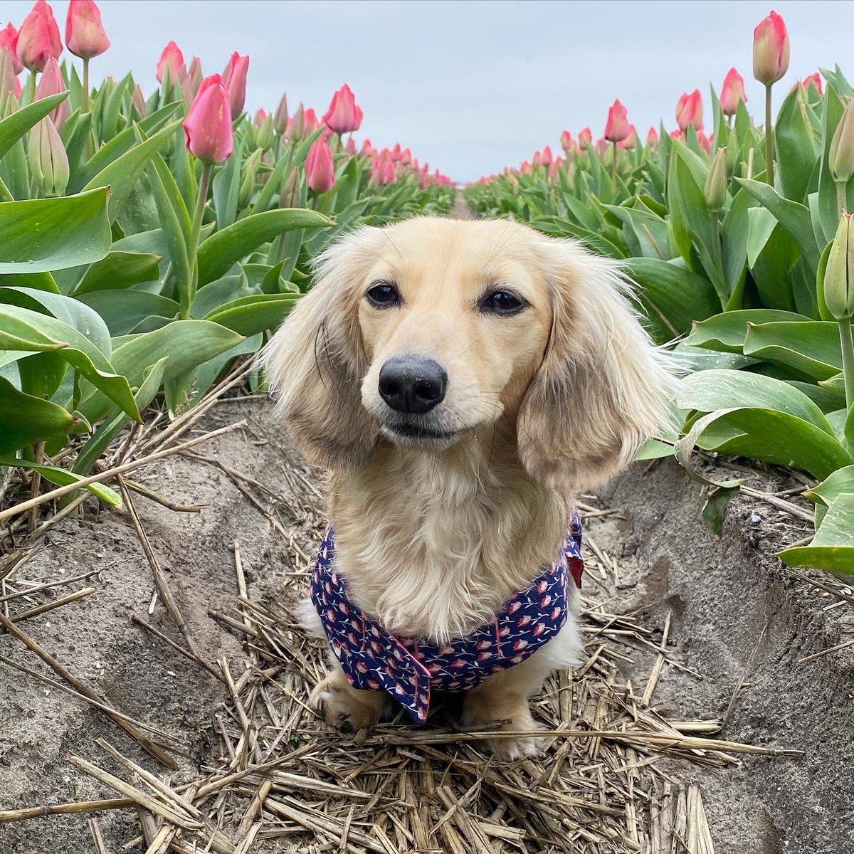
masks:
[[[292,542],[273,533],[269,520],[208,462],[175,457],[137,476],[174,501],[207,505],[184,514],[137,499],[203,657],[213,663],[225,656],[236,673],[245,652],[208,614],[232,612],[235,604],[234,541],[249,597],[282,601],[290,595],[288,573],[305,565],[322,524],[316,482],[306,484],[304,466],[276,440],[266,402],[224,402],[206,426],[239,418],[249,418],[247,430],[221,436],[199,453],[281,492],[294,510]],[[769,477],[757,483],[790,485]],[[699,780],[718,854],[851,851],[851,651],[809,664],[798,659],[845,640],[854,611],[794,581],[771,554],[781,541],[802,536],[804,525],[740,500],[718,540],[699,519],[699,487],[670,462],[636,465],[598,500],[616,511],[588,526],[588,539],[617,564],[611,608],[635,611],[657,638],[670,615],[670,658],[699,675],[665,664],[658,701],[684,718],[721,719],[744,681],[723,737],[806,752],[802,759],[746,757],[740,767],[723,770],[666,766],[668,775]],[[198,774],[211,762],[212,728],[225,690],[132,623],[132,615],[143,617],[179,640],[161,603],[149,617],[153,583],[129,520],[93,508],[57,525],[19,580],[99,570],[86,582],[96,593],[21,626],[127,714],[186,740],[190,749],[176,776]],[[828,605],[834,607],[828,611]],[[0,654],[44,671],[8,635],[0,635]],[[623,665],[639,693],[652,658],[637,655]],[[0,664],[0,810],[113,797],[67,761],[71,754],[102,761],[98,738],[139,756],[101,713]],[[123,851],[137,837],[136,817],[126,810],[104,813],[100,821],[108,851]],[[84,819],[56,816],[0,826],[0,851],[88,854],[95,848]]]

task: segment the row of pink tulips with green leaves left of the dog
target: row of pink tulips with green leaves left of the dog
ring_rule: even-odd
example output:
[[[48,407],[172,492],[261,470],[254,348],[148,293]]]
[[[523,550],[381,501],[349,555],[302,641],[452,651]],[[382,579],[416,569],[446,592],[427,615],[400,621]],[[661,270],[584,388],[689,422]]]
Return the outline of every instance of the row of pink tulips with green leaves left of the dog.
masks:
[[[248,56],[206,75],[173,42],[155,91],[92,85],[109,41],[88,0],[65,47],[44,0],[0,30],[0,472],[61,485],[155,398],[175,416],[254,354],[336,234],[454,195],[399,144],[356,149],[346,85],[321,119],[284,96],[249,117]]]

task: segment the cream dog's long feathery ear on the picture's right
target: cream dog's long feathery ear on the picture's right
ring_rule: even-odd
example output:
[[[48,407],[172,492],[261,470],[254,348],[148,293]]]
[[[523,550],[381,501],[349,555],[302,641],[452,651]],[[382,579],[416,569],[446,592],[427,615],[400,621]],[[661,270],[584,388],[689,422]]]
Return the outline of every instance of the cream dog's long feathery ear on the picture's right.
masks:
[[[572,241],[540,244],[553,323],[518,416],[525,468],[578,494],[626,465],[669,418],[676,380],[629,304],[617,263]]]

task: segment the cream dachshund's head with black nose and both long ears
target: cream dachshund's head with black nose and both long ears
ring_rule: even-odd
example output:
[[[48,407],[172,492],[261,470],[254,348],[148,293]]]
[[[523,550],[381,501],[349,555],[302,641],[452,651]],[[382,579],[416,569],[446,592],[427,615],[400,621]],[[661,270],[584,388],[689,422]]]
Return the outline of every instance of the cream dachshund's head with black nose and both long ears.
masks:
[[[442,451],[508,423],[532,477],[611,477],[666,420],[670,374],[617,265],[525,225],[409,219],[361,228],[266,348],[309,459],[359,465],[379,436]]]

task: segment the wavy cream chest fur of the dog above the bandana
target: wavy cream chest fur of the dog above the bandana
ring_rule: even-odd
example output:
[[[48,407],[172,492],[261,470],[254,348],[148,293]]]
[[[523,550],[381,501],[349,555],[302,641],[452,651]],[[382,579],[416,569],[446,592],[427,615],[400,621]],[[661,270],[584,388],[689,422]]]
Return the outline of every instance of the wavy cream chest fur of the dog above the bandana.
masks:
[[[337,473],[331,520],[354,602],[398,635],[465,635],[553,561],[567,502],[518,462],[381,445],[381,459]]]

